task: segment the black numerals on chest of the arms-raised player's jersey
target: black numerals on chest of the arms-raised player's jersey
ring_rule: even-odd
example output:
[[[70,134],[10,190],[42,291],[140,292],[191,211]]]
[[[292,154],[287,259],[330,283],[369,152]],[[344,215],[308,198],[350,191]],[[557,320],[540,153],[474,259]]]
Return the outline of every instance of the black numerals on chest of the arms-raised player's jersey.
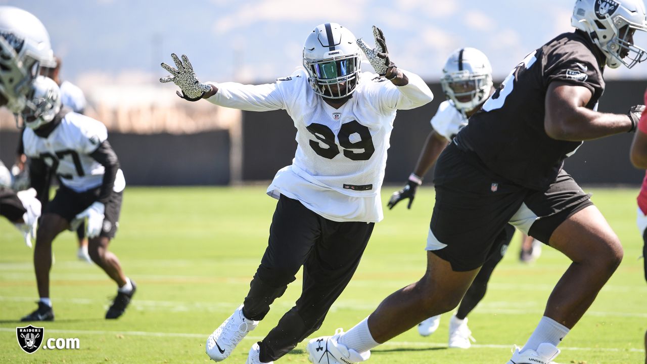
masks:
[[[306,127],[317,141],[310,140],[314,152],[327,159],[340,154],[333,131],[323,124],[313,122]],[[375,153],[371,131],[356,120],[342,124],[337,135],[339,145],[344,149],[344,157],[353,161],[367,161]]]

